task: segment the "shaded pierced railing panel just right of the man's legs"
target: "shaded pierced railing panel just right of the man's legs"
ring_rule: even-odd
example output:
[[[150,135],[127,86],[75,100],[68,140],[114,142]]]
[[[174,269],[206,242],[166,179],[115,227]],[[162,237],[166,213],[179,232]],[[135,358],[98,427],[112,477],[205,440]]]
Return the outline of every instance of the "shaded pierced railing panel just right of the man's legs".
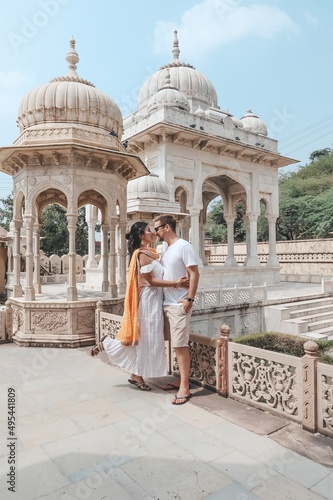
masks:
[[[204,385],[216,387],[216,348],[190,341],[190,376]]]

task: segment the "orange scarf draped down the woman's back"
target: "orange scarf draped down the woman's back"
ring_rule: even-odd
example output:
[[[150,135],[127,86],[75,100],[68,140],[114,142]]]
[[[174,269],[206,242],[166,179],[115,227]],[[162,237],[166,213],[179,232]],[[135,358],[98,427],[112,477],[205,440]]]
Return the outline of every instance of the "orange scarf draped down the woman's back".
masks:
[[[140,265],[138,248],[133,252],[128,268],[127,288],[124,301],[124,315],[117,335],[123,345],[137,345],[139,342],[139,298],[140,298]],[[149,249],[152,253],[154,250]]]

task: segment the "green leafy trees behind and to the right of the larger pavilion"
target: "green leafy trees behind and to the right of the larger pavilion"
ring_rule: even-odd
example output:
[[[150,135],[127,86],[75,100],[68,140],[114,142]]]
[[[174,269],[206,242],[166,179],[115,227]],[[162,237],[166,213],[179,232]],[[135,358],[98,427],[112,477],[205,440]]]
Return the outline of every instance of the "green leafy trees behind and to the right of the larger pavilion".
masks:
[[[280,216],[277,240],[327,238],[333,232],[333,149],[325,148],[310,155],[310,163],[279,179]],[[227,242],[227,226],[222,201],[207,215],[206,236],[214,243]],[[260,204],[257,240],[268,241],[265,205]],[[242,210],[237,206],[235,242],[246,240]]]

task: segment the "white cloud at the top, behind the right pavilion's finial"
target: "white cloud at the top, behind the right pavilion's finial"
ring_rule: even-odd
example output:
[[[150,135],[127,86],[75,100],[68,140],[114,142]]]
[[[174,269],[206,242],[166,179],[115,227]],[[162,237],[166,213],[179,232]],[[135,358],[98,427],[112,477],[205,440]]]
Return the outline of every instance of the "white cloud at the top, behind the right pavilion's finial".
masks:
[[[171,52],[174,29],[178,31],[180,48],[187,59],[248,37],[269,40],[282,31],[298,32],[298,26],[278,7],[263,3],[243,5],[242,0],[202,0],[184,12],[178,26],[158,21],[155,52]]]

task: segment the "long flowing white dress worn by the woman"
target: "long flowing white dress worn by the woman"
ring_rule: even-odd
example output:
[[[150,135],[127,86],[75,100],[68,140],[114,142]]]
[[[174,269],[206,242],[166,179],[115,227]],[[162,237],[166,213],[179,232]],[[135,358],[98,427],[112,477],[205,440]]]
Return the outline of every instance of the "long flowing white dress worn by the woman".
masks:
[[[140,274],[153,272],[162,279],[163,268],[158,260],[140,268]],[[140,276],[139,342],[124,346],[120,340],[106,337],[103,346],[112,365],[142,377],[167,375],[164,343],[163,288],[152,287]]]

